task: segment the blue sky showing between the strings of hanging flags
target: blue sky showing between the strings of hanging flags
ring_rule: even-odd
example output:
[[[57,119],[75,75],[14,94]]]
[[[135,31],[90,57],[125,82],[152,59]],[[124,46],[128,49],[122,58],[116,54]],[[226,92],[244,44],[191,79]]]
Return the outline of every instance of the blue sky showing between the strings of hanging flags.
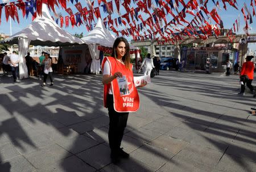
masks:
[[[2,0],[0,0],[0,3],[1,3]],[[107,0],[108,2],[110,0]],[[164,1],[164,0],[163,0]],[[173,0],[174,1],[174,0]],[[11,1],[11,2],[14,2],[14,1]],[[123,0],[121,0],[121,2],[123,2]],[[143,1],[142,1],[143,2]],[[164,1],[166,2],[166,1]],[[175,1],[174,1],[175,2]],[[185,0],[184,1],[185,3],[187,3],[188,1]],[[197,1],[199,2],[199,1]],[[215,0],[215,2],[217,2],[217,0]],[[239,28],[239,32],[236,32],[238,34],[243,34],[245,33],[243,31],[243,27],[245,26],[245,22],[243,20],[243,15],[242,15],[242,12],[241,12],[241,8],[243,6],[243,3],[246,3],[247,7],[249,8],[251,14],[252,14],[252,8],[250,6],[250,0],[246,0],[246,1],[243,1],[243,0],[238,0],[237,3],[238,3],[238,10],[236,10],[234,7],[230,6],[230,5],[226,5],[227,6],[227,10],[225,11],[224,8],[223,8],[223,5],[222,5],[222,1],[220,1],[220,7],[221,7],[221,10],[219,10],[218,8],[217,9],[217,12],[218,14],[221,16],[221,19],[224,23],[224,28],[232,28],[232,25],[233,23],[235,23],[235,20],[238,19],[238,15],[240,14],[240,28]],[[253,1],[254,2],[254,1]],[[74,1],[74,5],[75,5],[75,1]],[[82,7],[85,7],[87,6],[85,1],[80,1],[80,3],[82,4]],[[152,4],[154,4],[154,6],[156,6],[156,3],[155,1],[152,1]],[[77,9],[76,7],[72,5],[71,2],[68,3],[68,7],[71,7],[72,10],[73,10],[73,13],[75,14],[77,12]],[[94,7],[97,7],[98,6],[98,3],[97,1],[94,3]],[[180,5],[181,7],[182,5]],[[131,2],[131,6],[130,7],[137,7],[137,5],[134,5],[133,1]],[[159,6],[158,6],[159,7]],[[212,8],[214,7],[214,4],[212,2],[212,0],[209,0],[208,2],[208,11],[211,11]],[[255,7],[255,10],[256,10],[256,6]],[[115,2],[113,0],[113,8],[114,8],[114,14],[112,14],[112,19],[114,18],[117,18],[118,15],[117,15],[117,10],[116,10],[116,7],[115,7]],[[68,16],[68,13],[65,12],[62,8],[58,8],[56,7],[56,11],[57,13],[61,12],[61,14],[63,16]],[[126,11],[125,11],[125,8],[122,7],[122,5],[120,6],[120,11],[121,11],[121,15],[125,14]],[[28,18],[26,19],[26,16],[25,18],[23,19],[22,17],[22,14],[21,14],[21,11],[19,11],[19,20],[20,20],[20,23],[18,24],[16,21],[11,21],[11,24],[12,24],[12,32],[13,34],[16,33],[16,32],[19,32],[21,31],[24,27],[26,27],[28,24],[31,23],[31,15],[28,16]],[[102,7],[100,7],[100,12],[101,12],[101,16],[102,16],[102,19],[105,18],[105,16],[107,15],[106,13],[103,12],[103,9]],[[176,14],[175,11],[173,11],[174,14]],[[246,13],[246,11],[245,11]],[[149,17],[149,15],[146,15],[144,13],[141,13],[142,14],[142,17],[143,19],[146,19]],[[204,13],[203,13],[204,14]],[[246,13],[247,14],[247,13]],[[53,13],[51,12],[51,15],[53,16]],[[205,15],[205,14],[204,14]],[[172,16],[170,14],[167,15],[167,22],[170,21],[172,19]],[[131,18],[130,18],[131,19]],[[188,21],[191,21],[191,15],[187,14],[187,18],[185,18],[186,20]],[[256,33],[256,16],[253,16],[253,23],[252,24],[249,24],[249,26],[251,27],[251,30],[249,31],[249,33]],[[126,21],[126,19],[125,19]],[[96,20],[97,22],[97,20]],[[137,22],[138,23],[138,22]],[[139,20],[139,23],[141,23],[141,21]],[[163,23],[164,24],[164,23]],[[214,21],[212,24],[215,24]],[[125,27],[118,27],[116,28],[118,31],[120,31],[121,29],[124,29]],[[182,29],[182,27],[180,27]],[[72,33],[72,34],[75,34],[75,33],[81,33],[83,32],[84,35],[86,35],[86,33],[88,33],[88,31],[86,30],[86,27],[85,25],[80,25],[80,27],[74,27],[72,28],[71,25],[69,25],[68,28],[65,28],[63,27],[64,30],[68,31],[69,33]],[[5,10],[3,8],[2,10],[2,16],[1,16],[1,25],[0,25],[0,33],[5,33],[7,35],[10,35],[10,19],[8,21],[8,23],[6,22],[6,18],[5,18]],[[128,40],[130,40],[131,37],[128,38]],[[250,44],[249,47],[252,49],[252,50],[256,50],[256,44]]]

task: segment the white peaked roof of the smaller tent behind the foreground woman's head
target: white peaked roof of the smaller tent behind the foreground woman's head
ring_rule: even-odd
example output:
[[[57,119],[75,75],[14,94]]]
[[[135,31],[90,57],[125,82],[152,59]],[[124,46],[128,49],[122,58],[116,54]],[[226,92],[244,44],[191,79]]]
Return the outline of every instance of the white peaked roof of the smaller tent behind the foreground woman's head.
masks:
[[[94,29],[83,37],[82,40],[84,40],[86,44],[99,44],[111,48],[114,44],[115,37],[106,29],[102,20],[98,18]]]

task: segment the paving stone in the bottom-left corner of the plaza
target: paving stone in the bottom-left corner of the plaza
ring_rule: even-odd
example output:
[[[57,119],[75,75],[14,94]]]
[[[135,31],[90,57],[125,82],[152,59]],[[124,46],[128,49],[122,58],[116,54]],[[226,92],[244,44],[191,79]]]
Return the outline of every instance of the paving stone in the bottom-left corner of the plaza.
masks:
[[[36,168],[22,155],[0,162],[1,172],[34,172]]]

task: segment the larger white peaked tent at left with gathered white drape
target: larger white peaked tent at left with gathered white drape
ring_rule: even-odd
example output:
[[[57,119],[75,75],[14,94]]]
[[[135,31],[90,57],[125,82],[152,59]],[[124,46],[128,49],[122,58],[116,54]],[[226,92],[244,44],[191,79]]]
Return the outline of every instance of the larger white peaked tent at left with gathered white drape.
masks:
[[[27,71],[24,70],[26,65],[23,63],[23,56],[27,54],[28,46],[63,46],[73,44],[85,44],[80,38],[64,31],[55,23],[49,14],[47,5],[43,3],[42,16],[36,17],[22,31],[15,33],[13,36],[6,38],[4,42],[19,45],[19,78],[27,78]]]

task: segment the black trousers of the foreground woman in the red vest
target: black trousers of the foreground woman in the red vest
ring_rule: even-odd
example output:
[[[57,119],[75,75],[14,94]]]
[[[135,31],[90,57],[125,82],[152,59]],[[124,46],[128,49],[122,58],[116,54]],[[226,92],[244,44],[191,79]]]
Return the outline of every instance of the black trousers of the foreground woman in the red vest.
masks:
[[[114,110],[112,94],[107,96],[107,106],[109,110],[109,147],[114,152],[121,146],[129,113],[118,113]]]

